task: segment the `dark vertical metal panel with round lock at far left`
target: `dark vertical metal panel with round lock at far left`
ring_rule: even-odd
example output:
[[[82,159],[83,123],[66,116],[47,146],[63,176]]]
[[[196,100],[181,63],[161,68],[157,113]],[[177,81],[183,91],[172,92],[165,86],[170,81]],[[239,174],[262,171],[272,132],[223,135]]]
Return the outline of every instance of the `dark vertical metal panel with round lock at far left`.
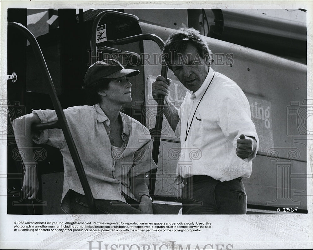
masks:
[[[8,21],[20,22],[26,25],[26,9],[8,9]],[[7,188],[8,188],[8,214],[26,214],[28,206],[22,198],[21,188],[23,181],[22,165],[15,160],[14,156],[17,146],[14,140],[12,121],[26,113],[25,98],[25,76],[26,76],[26,38],[18,32],[8,29],[8,75],[13,72],[17,74],[18,79],[15,83],[8,80],[8,151],[7,151]],[[5,107],[1,107],[1,109]],[[3,131],[5,132],[5,131]],[[5,134],[4,134],[5,135]],[[13,205],[18,202],[19,205]],[[31,212],[31,211],[30,211]]]

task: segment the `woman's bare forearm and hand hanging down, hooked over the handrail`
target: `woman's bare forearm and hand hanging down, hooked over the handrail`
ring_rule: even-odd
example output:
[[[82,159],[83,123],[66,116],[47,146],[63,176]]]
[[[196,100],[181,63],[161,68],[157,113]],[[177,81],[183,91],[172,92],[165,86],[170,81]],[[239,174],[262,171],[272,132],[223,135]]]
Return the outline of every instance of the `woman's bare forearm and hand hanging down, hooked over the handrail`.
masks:
[[[36,160],[32,150],[33,123],[40,123],[39,117],[34,113],[17,118],[12,122],[15,141],[20,154],[23,156],[25,166],[22,192],[28,199],[36,198],[39,188]]]

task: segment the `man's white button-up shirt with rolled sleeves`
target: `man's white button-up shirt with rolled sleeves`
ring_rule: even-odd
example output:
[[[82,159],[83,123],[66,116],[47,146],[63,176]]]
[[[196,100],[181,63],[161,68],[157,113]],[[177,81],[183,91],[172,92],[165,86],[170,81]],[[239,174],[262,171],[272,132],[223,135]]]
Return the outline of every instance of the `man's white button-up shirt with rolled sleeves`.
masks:
[[[186,93],[178,115],[175,134],[180,136],[182,148],[178,183],[192,175],[208,175],[220,181],[250,177],[259,138],[250,118],[249,102],[233,80],[210,68],[201,87],[193,94]],[[241,134],[257,141],[254,154],[244,160],[236,155]]]

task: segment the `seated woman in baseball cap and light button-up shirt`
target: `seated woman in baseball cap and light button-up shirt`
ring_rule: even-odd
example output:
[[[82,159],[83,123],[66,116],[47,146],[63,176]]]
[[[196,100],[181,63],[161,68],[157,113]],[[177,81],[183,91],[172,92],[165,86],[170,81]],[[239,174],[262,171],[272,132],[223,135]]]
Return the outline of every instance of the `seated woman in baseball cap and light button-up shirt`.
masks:
[[[87,180],[95,198],[97,213],[152,214],[146,175],[156,168],[151,158],[151,137],[141,123],[120,113],[131,102],[131,83],[127,77],[139,74],[125,69],[118,61],[106,59],[91,65],[84,78],[93,106],[64,110]],[[25,122],[24,122],[24,121]],[[35,143],[59,148],[64,162],[61,207],[68,214],[88,213],[84,191],[76,173],[61,129],[31,133],[33,123],[57,120],[54,110],[34,110],[13,121],[20,151]],[[20,138],[25,128],[25,136]],[[29,199],[38,192],[36,164],[32,153],[24,153],[25,175],[22,191]]]

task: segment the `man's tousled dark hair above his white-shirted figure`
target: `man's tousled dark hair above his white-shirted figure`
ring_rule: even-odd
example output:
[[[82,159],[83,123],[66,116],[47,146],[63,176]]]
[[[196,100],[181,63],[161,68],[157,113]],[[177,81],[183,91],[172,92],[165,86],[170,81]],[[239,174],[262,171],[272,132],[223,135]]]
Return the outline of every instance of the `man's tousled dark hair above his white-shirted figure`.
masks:
[[[209,49],[207,42],[201,38],[200,32],[193,28],[182,27],[167,38],[163,47],[162,57],[168,68],[172,69],[170,65],[171,61],[177,56],[177,54],[184,53],[189,44],[192,44],[197,48],[199,55],[203,59],[208,57],[208,65],[212,64],[213,54]]]

